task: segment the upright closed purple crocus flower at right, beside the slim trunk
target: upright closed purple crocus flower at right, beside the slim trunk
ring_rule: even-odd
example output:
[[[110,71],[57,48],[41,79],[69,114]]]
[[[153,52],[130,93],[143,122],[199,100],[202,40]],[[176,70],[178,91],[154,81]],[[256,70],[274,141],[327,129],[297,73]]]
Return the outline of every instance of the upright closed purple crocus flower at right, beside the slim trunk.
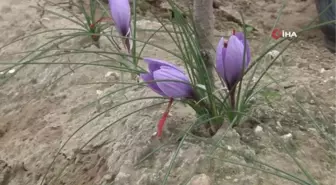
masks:
[[[247,69],[251,53],[249,43],[246,40],[246,51],[244,57],[244,33],[233,33],[226,42],[221,38],[216,49],[216,70],[219,76],[225,81],[229,90],[232,90],[234,85],[242,77],[242,69]],[[245,62],[245,66],[244,66]]]

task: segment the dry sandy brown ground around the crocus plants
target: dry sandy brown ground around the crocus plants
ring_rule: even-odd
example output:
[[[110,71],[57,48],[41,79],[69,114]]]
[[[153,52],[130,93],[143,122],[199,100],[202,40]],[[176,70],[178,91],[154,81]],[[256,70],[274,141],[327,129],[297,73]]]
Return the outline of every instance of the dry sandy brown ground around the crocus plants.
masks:
[[[66,10],[69,9],[66,0],[53,2]],[[280,0],[220,2],[220,7],[215,10],[216,34],[226,33],[232,29],[232,25],[235,25],[228,20],[227,14],[238,17],[237,11],[243,11],[246,22],[258,30],[250,38],[253,55],[256,57],[262,52],[262,43],[266,39],[266,34],[270,33],[281,3]],[[41,11],[34,6],[71,17],[64,9],[50,5],[43,0],[1,1],[1,46],[33,32],[76,27],[72,22],[47,11]],[[160,6],[163,5],[157,2],[153,6],[147,4],[145,7],[149,7],[149,10],[154,12],[161,12]],[[160,26],[159,23],[154,22],[149,11],[142,13],[142,20],[138,21],[140,28],[155,29]],[[313,16],[316,16],[316,13],[312,0],[291,1],[284,9],[278,28],[298,31],[308,24]],[[2,48],[0,62],[19,62],[27,55],[25,52],[34,51],[42,44],[51,43],[52,36],[65,33],[62,31],[35,35]],[[139,32],[138,37],[145,40],[150,34]],[[276,79],[281,79],[281,82],[280,85],[271,86],[268,90],[283,94],[284,88],[281,87],[291,87],[287,90],[288,93],[301,102],[316,119],[320,120],[322,116],[325,116],[329,123],[324,130],[326,134],[335,136],[336,125],[333,112],[335,112],[336,105],[336,57],[323,47],[322,34],[318,30],[305,33],[301,37],[303,39],[293,44],[281,61],[271,69],[270,74]],[[152,42],[158,45],[164,43],[166,49],[176,51],[174,43],[165,34],[155,36]],[[84,37],[74,38],[65,43],[54,43],[53,48],[56,47],[87,51],[111,51],[112,49],[104,38],[100,40],[100,49],[98,49]],[[38,53],[20,62],[27,61]],[[82,109],[102,95],[120,88],[121,85],[115,83],[119,79],[119,73],[106,67],[80,67],[80,65],[66,64],[67,62],[89,63],[103,59],[102,56],[92,53],[73,54],[69,52],[68,55],[48,58],[41,56],[38,62],[63,64],[26,65],[21,70],[17,66],[15,70],[18,73],[0,88],[0,185],[41,184],[59,147],[78,127],[99,115],[103,110],[125,101],[126,98],[130,100],[154,95],[147,88],[131,88],[125,92],[107,96],[100,103]],[[178,59],[154,47],[148,47],[143,56],[181,64]],[[114,58],[118,60],[117,57]],[[108,62],[113,61],[111,59]],[[0,69],[10,66],[1,65]],[[112,73],[112,75],[106,77],[107,73]],[[67,75],[64,76],[65,74]],[[4,76],[0,76],[0,80],[4,79]],[[64,77],[60,78],[62,76]],[[99,84],[97,82],[109,83]],[[313,92],[319,100],[324,114],[318,112],[316,102],[310,97],[306,88]],[[151,140],[151,136],[155,132],[156,122],[165,105],[147,108],[122,119],[134,110],[160,102],[159,99],[141,100],[118,106],[84,126],[60,152],[44,179],[45,184],[161,184],[178,148],[175,136],[194,121],[194,113],[183,105],[174,105],[165,129],[166,137],[163,142],[166,145],[140,164],[138,162],[143,157],[160,145]],[[272,105],[273,107],[265,103],[258,105],[256,116],[262,120],[262,124],[259,125],[263,128],[262,132],[255,133],[256,125],[250,123],[237,131],[230,131],[223,140],[223,145],[229,146],[231,151],[238,151],[245,156],[248,155],[303,177],[303,173],[294,165],[280,141],[274,137],[274,135],[279,136],[280,140],[284,140],[291,146],[290,151],[303,163],[305,169],[319,184],[334,184],[336,155],[328,147],[327,142],[322,139],[305,116],[298,112],[293,99],[288,96],[278,97],[273,100]],[[121,121],[115,123],[117,119]],[[108,129],[101,132],[82,149],[91,137],[107,126],[109,126]],[[284,139],[284,136],[289,136],[288,134],[291,134],[291,137]],[[195,185],[294,184],[253,169],[209,159],[206,156],[213,147],[207,141],[209,140],[200,141],[193,138],[185,141],[177,155],[167,184],[184,184],[192,177],[196,179]],[[213,156],[252,165],[248,157],[238,157],[227,150],[216,150]]]

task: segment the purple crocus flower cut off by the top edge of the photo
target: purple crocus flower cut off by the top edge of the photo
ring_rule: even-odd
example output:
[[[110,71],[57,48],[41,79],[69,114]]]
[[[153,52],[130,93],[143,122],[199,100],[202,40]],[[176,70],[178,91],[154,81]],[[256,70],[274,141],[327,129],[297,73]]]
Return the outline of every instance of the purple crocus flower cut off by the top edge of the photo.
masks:
[[[116,25],[119,34],[126,37],[124,45],[130,53],[132,48],[131,38],[131,7],[129,0],[109,0],[110,11],[112,19]]]

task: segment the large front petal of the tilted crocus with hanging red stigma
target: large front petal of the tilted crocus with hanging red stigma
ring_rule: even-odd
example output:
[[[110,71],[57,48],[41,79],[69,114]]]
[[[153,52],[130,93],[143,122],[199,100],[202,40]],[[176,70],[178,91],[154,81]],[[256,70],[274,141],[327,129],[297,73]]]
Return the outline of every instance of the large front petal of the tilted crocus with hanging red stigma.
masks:
[[[155,80],[176,80],[181,82],[157,82],[157,85],[164,94],[171,98],[186,98],[190,97],[192,88],[189,84],[189,79],[181,71],[175,68],[162,66],[161,69],[153,73]],[[184,82],[184,83],[183,83]]]

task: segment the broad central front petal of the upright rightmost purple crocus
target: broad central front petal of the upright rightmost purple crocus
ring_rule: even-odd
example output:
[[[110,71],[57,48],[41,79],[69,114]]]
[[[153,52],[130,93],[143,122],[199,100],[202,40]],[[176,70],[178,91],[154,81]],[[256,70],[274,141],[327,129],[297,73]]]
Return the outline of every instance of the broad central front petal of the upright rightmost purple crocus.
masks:
[[[226,56],[224,58],[224,79],[231,88],[237,83],[241,77],[243,67],[244,45],[236,36],[231,36],[226,48]]]

